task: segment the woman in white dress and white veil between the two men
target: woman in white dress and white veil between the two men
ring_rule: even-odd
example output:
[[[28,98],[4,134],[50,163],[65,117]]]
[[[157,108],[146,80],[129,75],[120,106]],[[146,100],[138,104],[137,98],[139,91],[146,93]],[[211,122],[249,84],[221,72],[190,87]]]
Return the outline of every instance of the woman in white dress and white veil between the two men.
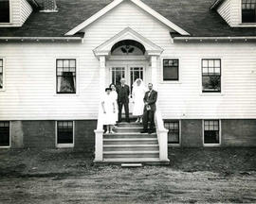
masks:
[[[143,98],[146,93],[146,87],[142,79],[137,78],[133,84],[133,99],[134,99],[134,110],[133,115],[137,116],[136,123],[142,123],[142,115],[144,111]]]

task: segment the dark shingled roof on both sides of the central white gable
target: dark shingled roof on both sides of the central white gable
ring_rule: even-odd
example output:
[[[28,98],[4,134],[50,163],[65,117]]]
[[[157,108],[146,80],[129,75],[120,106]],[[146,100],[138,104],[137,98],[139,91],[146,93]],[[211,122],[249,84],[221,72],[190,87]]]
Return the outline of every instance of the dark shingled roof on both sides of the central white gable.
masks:
[[[186,30],[191,37],[256,36],[256,27],[230,27],[215,10],[210,9],[215,0],[141,1]],[[58,12],[33,12],[22,27],[0,27],[0,37],[64,37],[69,30],[81,25],[111,2],[57,0]]]

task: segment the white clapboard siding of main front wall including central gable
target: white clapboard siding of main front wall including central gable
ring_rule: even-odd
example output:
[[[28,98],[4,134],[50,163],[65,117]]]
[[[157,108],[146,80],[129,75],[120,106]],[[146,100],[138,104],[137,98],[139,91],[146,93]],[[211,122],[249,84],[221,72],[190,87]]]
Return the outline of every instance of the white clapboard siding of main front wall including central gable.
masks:
[[[83,43],[1,44],[6,91],[0,92],[0,120],[97,119],[101,81],[99,60],[92,50],[127,26],[164,49],[157,70],[158,104],[164,118],[256,118],[255,43],[172,43],[167,26],[125,1],[86,27]],[[78,94],[55,93],[56,58],[78,59]],[[161,82],[162,58],[180,59],[180,83]],[[222,94],[201,94],[201,58],[222,59]],[[150,67],[146,75],[151,76]]]

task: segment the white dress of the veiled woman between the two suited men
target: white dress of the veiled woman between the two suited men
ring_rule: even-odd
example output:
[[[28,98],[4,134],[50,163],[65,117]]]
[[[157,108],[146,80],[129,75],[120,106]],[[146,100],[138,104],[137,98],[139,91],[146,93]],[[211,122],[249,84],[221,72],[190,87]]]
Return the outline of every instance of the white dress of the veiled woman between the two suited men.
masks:
[[[144,101],[143,98],[146,93],[146,88],[143,85],[134,86],[133,89],[133,99],[134,99],[134,110],[133,110],[133,115],[135,116],[140,116],[143,115],[143,110],[144,110]]]

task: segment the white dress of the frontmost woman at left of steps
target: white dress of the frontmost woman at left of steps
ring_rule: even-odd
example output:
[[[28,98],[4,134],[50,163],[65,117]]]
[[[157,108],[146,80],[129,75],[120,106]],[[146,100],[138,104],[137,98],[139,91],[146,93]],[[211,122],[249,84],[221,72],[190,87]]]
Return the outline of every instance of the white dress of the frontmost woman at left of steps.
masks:
[[[113,99],[113,95],[105,93],[101,102],[104,102],[104,108],[106,113],[104,113],[101,106],[101,114],[102,114],[102,122],[103,125],[115,125],[116,124],[116,113],[114,113],[113,103],[115,101]],[[115,108],[116,109],[116,108]],[[116,109],[117,111],[117,109]]]

